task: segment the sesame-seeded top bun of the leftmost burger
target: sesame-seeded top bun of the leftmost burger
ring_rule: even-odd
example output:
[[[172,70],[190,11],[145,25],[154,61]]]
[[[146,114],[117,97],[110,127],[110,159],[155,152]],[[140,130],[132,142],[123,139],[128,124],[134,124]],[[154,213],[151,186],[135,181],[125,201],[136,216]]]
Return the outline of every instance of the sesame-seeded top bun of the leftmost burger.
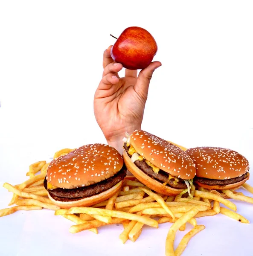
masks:
[[[84,187],[112,177],[122,166],[122,156],[115,148],[89,144],[52,160],[47,181],[58,188]]]

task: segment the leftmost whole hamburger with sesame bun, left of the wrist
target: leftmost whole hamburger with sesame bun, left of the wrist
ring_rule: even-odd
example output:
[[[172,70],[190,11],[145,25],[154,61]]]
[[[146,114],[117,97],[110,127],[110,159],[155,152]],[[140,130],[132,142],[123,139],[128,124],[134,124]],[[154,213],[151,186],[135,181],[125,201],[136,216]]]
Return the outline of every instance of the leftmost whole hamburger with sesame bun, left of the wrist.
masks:
[[[125,176],[122,156],[115,148],[89,144],[52,160],[44,187],[61,208],[87,207],[114,195]]]

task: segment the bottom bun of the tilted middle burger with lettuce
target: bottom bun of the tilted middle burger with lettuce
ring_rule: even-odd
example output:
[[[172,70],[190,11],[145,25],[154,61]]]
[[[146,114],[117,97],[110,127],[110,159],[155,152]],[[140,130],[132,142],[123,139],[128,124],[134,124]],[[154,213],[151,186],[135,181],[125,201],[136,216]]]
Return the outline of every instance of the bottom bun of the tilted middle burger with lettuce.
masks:
[[[126,151],[123,151],[122,157],[125,162],[125,166],[132,175],[134,175],[140,182],[148,186],[150,189],[162,194],[162,195],[179,195],[183,189],[174,189],[172,187],[163,185],[159,181],[153,179],[152,177],[146,175],[139,169],[134,163],[131,162],[130,157]]]

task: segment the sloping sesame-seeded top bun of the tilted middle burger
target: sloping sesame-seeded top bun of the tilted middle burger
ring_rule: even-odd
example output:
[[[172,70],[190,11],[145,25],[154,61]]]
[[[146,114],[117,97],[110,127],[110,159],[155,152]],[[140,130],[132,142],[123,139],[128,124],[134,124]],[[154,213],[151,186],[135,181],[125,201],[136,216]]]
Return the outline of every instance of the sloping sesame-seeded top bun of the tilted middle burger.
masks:
[[[196,174],[192,159],[178,146],[146,131],[134,131],[130,143],[146,160],[164,172],[184,180],[193,179]]]

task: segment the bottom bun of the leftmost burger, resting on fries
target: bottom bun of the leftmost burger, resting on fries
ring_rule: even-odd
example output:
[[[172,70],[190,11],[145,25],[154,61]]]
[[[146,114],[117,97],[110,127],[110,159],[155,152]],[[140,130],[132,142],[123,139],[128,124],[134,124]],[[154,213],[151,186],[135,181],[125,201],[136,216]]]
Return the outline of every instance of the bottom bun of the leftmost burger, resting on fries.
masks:
[[[111,198],[116,192],[119,191],[119,189],[122,186],[123,181],[121,180],[119,183],[117,183],[115,186],[113,186],[111,189],[105,190],[104,192],[93,195],[87,198],[82,198],[76,201],[57,201],[54,198],[52,198],[49,195],[49,192],[47,192],[49,199],[52,201],[53,204],[57,205],[58,207],[70,209],[71,207],[89,207],[94,204],[101,203],[102,201],[107,200],[108,198]]]

